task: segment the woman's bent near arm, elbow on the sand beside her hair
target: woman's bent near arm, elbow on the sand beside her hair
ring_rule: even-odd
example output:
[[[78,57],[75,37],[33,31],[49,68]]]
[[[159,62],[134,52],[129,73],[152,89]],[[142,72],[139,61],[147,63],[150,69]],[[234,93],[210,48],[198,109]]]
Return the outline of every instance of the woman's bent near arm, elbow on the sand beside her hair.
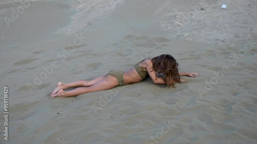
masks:
[[[166,84],[166,82],[161,78],[158,77],[155,73],[155,70],[153,70],[153,62],[150,59],[145,60],[146,64],[146,70],[148,71],[149,76],[152,78],[154,84]]]

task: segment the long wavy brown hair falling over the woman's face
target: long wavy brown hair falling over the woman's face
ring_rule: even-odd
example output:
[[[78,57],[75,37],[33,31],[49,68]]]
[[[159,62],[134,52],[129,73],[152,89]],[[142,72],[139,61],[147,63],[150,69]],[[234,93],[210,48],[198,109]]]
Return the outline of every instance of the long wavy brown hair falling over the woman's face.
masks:
[[[175,83],[180,83],[178,63],[170,54],[162,54],[152,58],[153,70],[158,74],[163,73],[163,80],[167,87],[175,88]]]

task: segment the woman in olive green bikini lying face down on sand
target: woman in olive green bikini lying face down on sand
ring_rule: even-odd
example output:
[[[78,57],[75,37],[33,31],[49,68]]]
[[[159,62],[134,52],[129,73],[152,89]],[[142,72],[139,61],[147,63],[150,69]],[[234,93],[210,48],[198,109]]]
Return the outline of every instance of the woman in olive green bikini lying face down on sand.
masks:
[[[164,78],[157,74],[163,74]],[[178,72],[178,63],[169,54],[162,54],[152,59],[144,59],[127,71],[111,70],[104,76],[93,80],[79,80],[73,83],[58,83],[57,88],[51,93],[52,97],[76,96],[87,92],[96,92],[101,90],[113,89],[117,86],[138,83],[149,76],[155,84],[167,84],[168,87],[175,87],[175,83],[185,81],[180,76],[195,77],[198,73]],[[79,88],[76,88],[79,87]],[[74,90],[64,91],[64,89],[76,88]]]

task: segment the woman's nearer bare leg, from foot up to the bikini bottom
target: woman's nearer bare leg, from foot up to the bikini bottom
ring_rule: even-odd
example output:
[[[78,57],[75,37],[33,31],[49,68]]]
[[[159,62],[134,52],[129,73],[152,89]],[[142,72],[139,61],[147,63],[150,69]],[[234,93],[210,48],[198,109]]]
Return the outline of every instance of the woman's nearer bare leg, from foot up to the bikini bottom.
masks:
[[[118,86],[118,80],[113,75],[107,75],[103,79],[99,80],[95,85],[90,87],[81,87],[70,91],[63,91],[62,89],[58,91],[57,94],[52,95],[52,97],[68,97],[76,96],[87,92],[96,92],[101,90],[109,90]]]

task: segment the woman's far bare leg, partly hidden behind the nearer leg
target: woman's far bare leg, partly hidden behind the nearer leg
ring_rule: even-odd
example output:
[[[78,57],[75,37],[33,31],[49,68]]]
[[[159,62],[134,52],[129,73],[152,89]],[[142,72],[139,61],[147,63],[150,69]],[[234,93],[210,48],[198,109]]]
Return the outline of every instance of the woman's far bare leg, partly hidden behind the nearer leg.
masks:
[[[99,76],[93,80],[79,80],[68,84],[63,84],[61,82],[58,83],[57,87],[52,91],[51,96],[56,94],[59,90],[68,89],[68,88],[76,88],[76,87],[90,87],[95,85],[98,81],[104,79],[105,76]]]

